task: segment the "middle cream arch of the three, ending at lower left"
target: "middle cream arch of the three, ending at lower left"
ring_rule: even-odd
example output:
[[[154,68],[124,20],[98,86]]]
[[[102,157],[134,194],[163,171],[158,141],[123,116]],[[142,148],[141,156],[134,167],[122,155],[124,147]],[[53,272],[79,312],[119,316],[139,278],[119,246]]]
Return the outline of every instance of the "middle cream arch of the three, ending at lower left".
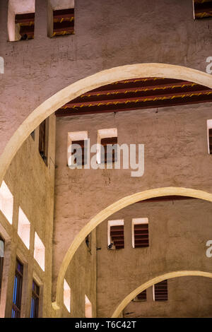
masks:
[[[52,306],[54,309],[59,309],[60,303],[62,301],[61,296],[63,294],[63,282],[64,277],[66,274],[66,270],[69,266],[69,263],[75,254],[78,247],[83,242],[83,239],[92,231],[95,227],[97,227],[102,221],[110,217],[113,213],[121,210],[122,208],[125,208],[126,206],[129,206],[133,203],[136,203],[138,201],[143,201],[148,198],[153,197],[160,197],[160,196],[189,196],[194,198],[200,198],[205,201],[211,201],[212,202],[212,194],[207,193],[206,191],[201,191],[197,189],[188,189],[188,188],[181,188],[181,187],[165,187],[165,188],[158,188],[158,189],[149,189],[146,191],[141,191],[136,194],[132,194],[130,196],[126,196],[124,198],[119,199],[119,201],[116,201],[115,203],[111,204],[110,206],[107,206],[104,210],[100,211],[95,217],[93,217],[89,223],[83,227],[83,229],[78,233],[78,235],[73,240],[71,246],[69,247],[68,251],[66,252],[66,255],[64,256],[64,260],[61,263],[61,268],[59,270],[59,275],[57,278],[57,294],[56,294],[56,302],[52,303]]]

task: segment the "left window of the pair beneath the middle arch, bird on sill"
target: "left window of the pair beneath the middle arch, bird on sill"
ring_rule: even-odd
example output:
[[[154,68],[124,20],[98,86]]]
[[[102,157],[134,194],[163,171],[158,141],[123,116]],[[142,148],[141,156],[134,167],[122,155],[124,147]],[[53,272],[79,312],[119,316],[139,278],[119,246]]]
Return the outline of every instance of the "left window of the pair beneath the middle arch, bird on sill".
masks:
[[[107,248],[124,249],[124,220],[108,220]]]

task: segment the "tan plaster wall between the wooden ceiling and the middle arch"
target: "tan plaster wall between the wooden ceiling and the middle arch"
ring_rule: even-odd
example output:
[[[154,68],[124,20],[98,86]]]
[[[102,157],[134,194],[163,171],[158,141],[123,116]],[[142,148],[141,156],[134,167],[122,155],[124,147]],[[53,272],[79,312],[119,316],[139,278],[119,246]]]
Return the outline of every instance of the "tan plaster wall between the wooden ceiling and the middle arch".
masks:
[[[211,118],[209,103],[57,118],[54,278],[82,227],[119,198],[164,186],[211,192],[208,118]],[[131,170],[70,170],[67,167],[68,132],[88,131],[93,145],[97,142],[98,129],[110,128],[117,128],[119,144],[144,144],[143,177],[131,177]]]

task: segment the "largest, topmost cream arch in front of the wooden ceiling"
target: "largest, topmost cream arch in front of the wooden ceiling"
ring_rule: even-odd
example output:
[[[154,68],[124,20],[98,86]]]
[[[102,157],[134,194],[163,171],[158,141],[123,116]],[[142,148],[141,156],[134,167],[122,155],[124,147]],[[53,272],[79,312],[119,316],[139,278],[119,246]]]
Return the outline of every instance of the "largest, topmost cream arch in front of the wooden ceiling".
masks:
[[[6,148],[0,157],[0,184],[4,174],[11,163],[14,155],[25,141],[30,133],[49,115],[54,113],[61,106],[78,97],[89,90],[129,78],[138,77],[163,77],[176,78],[185,81],[192,81],[208,88],[212,88],[212,77],[208,73],[197,71],[196,69],[177,66],[172,64],[131,64],[126,66],[117,66],[112,69],[106,69],[95,73],[94,75],[83,78],[66,88],[59,90],[45,102],[42,102],[19,126],[16,132],[8,141]]]

